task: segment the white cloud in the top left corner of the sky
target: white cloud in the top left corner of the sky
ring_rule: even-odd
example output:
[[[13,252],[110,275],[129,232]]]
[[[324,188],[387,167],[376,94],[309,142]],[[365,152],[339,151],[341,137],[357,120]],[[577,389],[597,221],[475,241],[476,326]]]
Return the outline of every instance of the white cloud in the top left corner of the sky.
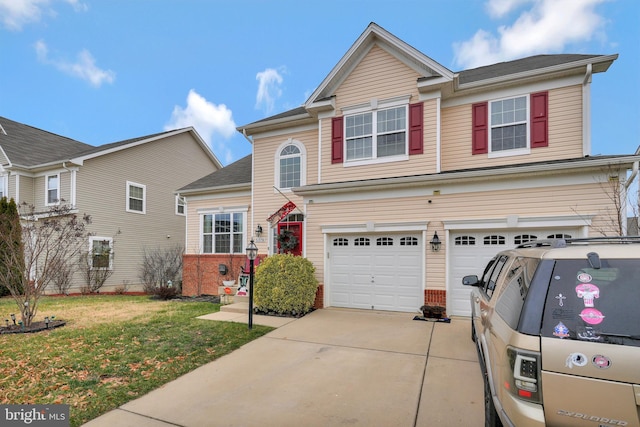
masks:
[[[0,0],[0,22],[9,30],[19,31],[26,24],[40,21],[43,12],[55,15],[49,8],[52,0]],[[64,0],[76,12],[86,12],[89,6],[80,0]]]

